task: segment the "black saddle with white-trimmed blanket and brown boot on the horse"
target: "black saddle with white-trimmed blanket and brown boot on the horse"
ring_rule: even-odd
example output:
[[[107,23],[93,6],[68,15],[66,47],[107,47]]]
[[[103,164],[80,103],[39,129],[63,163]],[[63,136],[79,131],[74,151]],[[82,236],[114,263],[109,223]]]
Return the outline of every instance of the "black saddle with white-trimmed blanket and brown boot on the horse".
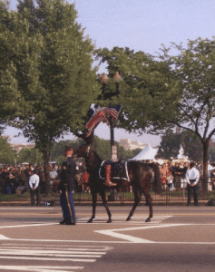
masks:
[[[117,180],[129,180],[128,170],[127,170],[127,161],[124,159],[118,161],[112,160],[103,160],[100,169],[99,177],[102,180],[105,180],[106,186],[116,186],[114,183]]]

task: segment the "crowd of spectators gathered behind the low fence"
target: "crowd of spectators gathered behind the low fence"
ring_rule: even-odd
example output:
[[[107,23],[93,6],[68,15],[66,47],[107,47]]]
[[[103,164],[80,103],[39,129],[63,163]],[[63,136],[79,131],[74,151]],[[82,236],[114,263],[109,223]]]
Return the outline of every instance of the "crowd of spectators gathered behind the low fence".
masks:
[[[162,165],[159,165],[161,171],[161,183],[163,189],[181,189],[187,188],[186,171],[189,169],[190,162],[172,162],[167,161]],[[61,165],[50,164],[50,185],[54,192],[58,192],[58,186],[60,184]],[[196,169],[200,171],[200,181],[203,177],[203,164],[196,163]],[[37,170],[39,176],[40,192],[45,192],[45,179],[44,179],[44,167],[42,165],[34,166],[27,164],[25,166],[12,166],[7,165],[0,170],[0,193],[1,194],[24,194],[30,190],[29,179],[33,175],[33,171]],[[215,189],[215,166],[209,163],[208,168],[209,184],[211,189]],[[75,192],[88,192],[90,193],[90,187],[88,186],[89,173],[85,170],[84,165],[79,167],[76,171],[75,180]],[[201,182],[199,185],[201,186]],[[200,187],[199,186],[199,187]]]

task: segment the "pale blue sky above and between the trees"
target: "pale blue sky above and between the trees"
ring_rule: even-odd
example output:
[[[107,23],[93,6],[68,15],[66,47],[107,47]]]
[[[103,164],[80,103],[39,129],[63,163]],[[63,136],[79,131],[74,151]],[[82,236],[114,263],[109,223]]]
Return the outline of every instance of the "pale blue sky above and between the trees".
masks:
[[[212,39],[215,36],[214,0],[68,0],[78,12],[78,23],[85,28],[97,48],[129,47],[135,52],[155,54],[161,44],[183,44],[198,37]],[[11,0],[11,8],[17,2]],[[105,67],[101,68],[105,72]],[[7,129],[11,142],[26,142],[24,137],[14,138],[15,129]],[[110,140],[110,130],[100,124],[95,135]],[[131,139],[159,145],[160,136],[128,133],[114,130],[115,141]],[[73,136],[68,139],[73,140]]]

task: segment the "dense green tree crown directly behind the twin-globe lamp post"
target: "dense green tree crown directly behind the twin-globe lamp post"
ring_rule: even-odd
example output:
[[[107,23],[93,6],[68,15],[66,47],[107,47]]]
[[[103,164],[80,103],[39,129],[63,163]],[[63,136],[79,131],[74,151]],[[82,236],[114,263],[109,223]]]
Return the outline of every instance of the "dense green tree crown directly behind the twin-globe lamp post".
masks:
[[[112,79],[118,71],[123,79],[119,95],[111,99],[113,105],[122,104],[117,126],[140,134],[150,132],[154,122],[164,113],[161,105],[168,102],[173,94],[177,99],[181,98],[171,88],[175,82],[173,76],[169,76],[167,63],[141,51],[135,53],[127,47],[104,48],[97,53],[101,62],[107,63],[109,77]],[[108,81],[107,92],[114,92],[114,88],[112,80]],[[101,103],[105,105],[107,102]],[[162,122],[165,123],[165,119]]]

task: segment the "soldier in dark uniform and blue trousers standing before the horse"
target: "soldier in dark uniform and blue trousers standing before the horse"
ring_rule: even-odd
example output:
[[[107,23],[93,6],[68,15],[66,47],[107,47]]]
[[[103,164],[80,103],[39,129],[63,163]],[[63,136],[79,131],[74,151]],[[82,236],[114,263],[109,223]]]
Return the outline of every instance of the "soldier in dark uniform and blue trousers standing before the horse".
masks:
[[[64,160],[62,165],[60,174],[61,183],[58,188],[61,193],[60,203],[64,217],[60,224],[75,225],[76,217],[73,203],[73,190],[75,188],[74,175],[76,173],[76,163],[72,158],[73,148],[65,147],[64,156],[66,160]]]

